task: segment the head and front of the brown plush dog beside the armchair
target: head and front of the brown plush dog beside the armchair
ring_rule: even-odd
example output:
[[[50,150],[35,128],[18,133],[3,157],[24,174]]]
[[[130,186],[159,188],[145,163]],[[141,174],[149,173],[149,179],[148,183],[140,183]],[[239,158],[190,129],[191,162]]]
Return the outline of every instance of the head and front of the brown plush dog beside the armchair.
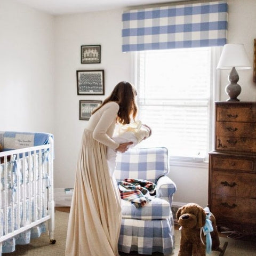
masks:
[[[178,256],[205,256],[206,239],[201,228],[205,225],[206,213],[203,207],[189,203],[180,207],[176,214],[181,226],[180,250]]]

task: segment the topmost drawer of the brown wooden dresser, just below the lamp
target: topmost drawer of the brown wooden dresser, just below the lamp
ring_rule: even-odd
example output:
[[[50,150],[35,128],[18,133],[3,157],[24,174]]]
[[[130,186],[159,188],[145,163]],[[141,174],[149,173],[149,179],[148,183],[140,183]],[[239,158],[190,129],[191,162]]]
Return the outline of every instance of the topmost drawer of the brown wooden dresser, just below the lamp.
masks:
[[[256,106],[253,103],[218,104],[216,121],[256,123]]]

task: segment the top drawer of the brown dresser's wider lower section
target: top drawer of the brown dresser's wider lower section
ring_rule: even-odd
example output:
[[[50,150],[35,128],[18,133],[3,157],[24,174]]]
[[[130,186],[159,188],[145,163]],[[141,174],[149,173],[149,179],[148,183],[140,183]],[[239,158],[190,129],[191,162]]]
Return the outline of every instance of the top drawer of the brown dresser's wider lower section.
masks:
[[[226,155],[211,155],[211,163],[212,170],[256,173],[255,158],[238,158]]]

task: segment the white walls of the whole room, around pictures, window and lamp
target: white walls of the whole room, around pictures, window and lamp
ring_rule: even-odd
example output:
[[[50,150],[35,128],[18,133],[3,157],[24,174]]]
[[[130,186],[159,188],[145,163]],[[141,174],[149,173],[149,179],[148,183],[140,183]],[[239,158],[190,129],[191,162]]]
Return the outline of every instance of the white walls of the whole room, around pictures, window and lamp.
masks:
[[[246,0],[245,4],[244,0],[228,0],[228,4],[228,43],[243,43],[252,63],[256,1]],[[54,131],[55,187],[74,184],[78,150],[87,124],[78,119],[79,100],[105,99],[119,81],[132,81],[132,56],[121,52],[121,15],[122,10],[115,10],[53,18],[0,0],[0,95],[4,95],[0,101],[0,130]],[[101,45],[101,63],[82,65],[80,47],[90,44]],[[76,70],[87,69],[105,70],[105,95],[77,95]],[[256,101],[252,74],[252,69],[239,71],[241,100]],[[223,101],[227,99],[227,76],[228,71],[221,71]],[[171,162],[170,177],[178,188],[175,202],[207,204],[207,164]]]

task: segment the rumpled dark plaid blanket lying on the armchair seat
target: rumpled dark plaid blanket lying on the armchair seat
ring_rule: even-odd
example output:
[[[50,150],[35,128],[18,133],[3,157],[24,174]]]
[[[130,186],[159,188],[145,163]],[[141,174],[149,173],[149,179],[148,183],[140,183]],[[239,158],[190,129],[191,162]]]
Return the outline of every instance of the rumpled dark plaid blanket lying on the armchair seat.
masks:
[[[118,188],[121,198],[138,208],[151,201],[156,184],[148,180],[124,179],[118,182]]]

